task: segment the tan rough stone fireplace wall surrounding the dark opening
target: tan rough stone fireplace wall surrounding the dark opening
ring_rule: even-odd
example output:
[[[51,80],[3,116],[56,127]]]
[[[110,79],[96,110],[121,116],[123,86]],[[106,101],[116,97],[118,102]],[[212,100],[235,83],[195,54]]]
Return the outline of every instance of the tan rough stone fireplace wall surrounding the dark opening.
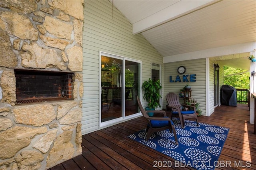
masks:
[[[0,170],[82,153],[83,0],[0,0]],[[73,100],[15,105],[14,69],[75,73]]]

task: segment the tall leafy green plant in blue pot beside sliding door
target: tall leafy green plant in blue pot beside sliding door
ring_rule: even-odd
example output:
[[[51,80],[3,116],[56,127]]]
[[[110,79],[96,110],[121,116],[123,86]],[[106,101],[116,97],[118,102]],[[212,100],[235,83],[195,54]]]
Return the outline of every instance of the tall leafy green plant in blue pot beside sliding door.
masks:
[[[162,89],[160,80],[148,79],[142,84],[142,90],[144,90],[143,99],[147,102],[146,110],[155,110],[160,106],[159,99],[161,98],[160,89]],[[149,116],[153,116],[154,113],[148,113]]]

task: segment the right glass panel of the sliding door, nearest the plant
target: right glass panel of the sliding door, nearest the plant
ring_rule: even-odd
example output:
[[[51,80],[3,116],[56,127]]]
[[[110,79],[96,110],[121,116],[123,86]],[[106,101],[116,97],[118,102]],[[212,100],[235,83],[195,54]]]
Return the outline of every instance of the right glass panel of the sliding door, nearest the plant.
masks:
[[[138,113],[136,96],[140,93],[140,63],[125,61],[125,116]]]

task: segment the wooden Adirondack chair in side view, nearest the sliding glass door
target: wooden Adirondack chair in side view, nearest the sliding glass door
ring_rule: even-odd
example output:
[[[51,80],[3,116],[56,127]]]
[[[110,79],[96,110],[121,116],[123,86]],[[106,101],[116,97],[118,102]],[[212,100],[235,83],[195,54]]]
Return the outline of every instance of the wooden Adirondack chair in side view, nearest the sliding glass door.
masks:
[[[162,113],[164,117],[149,117],[147,114],[147,111],[145,111],[144,108],[142,107],[142,104],[138,96],[137,96],[137,101],[140,108],[140,112],[142,113],[143,117],[148,121],[148,126],[146,128],[146,132],[147,132],[146,140],[148,140],[151,134],[153,134],[154,132],[162,131],[169,128],[170,132],[173,132],[174,134],[176,144],[178,144],[176,131],[175,131],[175,128],[172,126],[173,122],[170,117],[166,116],[166,112],[150,111],[154,113]]]

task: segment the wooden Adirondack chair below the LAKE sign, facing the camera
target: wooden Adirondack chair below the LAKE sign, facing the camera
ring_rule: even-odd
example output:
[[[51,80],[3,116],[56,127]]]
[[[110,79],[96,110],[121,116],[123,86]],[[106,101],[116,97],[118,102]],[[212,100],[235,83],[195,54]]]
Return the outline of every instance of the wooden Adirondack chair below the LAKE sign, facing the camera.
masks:
[[[181,123],[182,128],[184,128],[184,126],[185,126],[184,125],[185,119],[188,119],[188,118],[195,118],[197,126],[198,126],[198,119],[197,119],[197,115],[196,115],[196,107],[195,106],[183,105],[183,104],[181,105],[178,95],[176,95],[173,92],[170,92],[166,95],[166,100],[168,102],[168,107],[170,107],[172,109],[172,117],[180,118],[180,123]],[[192,111],[181,111],[180,106],[192,107],[193,110]]]

